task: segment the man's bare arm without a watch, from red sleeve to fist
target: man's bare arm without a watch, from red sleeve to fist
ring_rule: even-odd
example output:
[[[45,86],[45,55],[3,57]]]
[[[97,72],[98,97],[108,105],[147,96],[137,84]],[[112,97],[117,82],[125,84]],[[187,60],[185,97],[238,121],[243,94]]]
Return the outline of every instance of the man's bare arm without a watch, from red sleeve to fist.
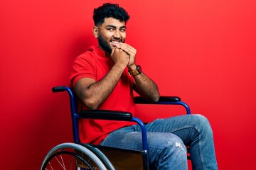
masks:
[[[75,83],[75,93],[89,109],[97,109],[110,96],[129,62],[129,56],[119,49],[112,50],[111,57],[114,66],[100,81],[82,78]]]

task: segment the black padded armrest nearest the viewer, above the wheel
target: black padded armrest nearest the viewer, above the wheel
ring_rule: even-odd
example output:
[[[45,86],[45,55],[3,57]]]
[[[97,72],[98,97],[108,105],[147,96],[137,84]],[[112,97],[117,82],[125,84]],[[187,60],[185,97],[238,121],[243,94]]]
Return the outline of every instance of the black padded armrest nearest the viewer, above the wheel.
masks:
[[[106,110],[86,110],[80,111],[80,118],[101,119],[101,120],[124,120],[131,121],[132,113]]]

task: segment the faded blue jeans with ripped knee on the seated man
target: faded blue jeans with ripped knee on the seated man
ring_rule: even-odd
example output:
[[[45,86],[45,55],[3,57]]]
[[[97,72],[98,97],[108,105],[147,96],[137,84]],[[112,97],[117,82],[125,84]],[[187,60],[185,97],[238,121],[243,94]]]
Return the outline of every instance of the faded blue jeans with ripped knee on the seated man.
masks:
[[[213,132],[203,115],[157,119],[146,125],[150,169],[188,169],[186,146],[194,170],[218,169]],[[110,133],[100,145],[142,149],[139,125]]]

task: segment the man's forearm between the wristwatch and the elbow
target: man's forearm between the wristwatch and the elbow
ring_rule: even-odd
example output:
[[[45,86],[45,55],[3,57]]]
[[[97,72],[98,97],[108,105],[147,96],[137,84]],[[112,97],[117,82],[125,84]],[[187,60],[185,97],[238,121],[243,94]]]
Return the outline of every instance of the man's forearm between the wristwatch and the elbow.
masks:
[[[140,96],[150,102],[156,102],[159,100],[160,94],[158,86],[143,72],[134,76],[134,81],[134,89]]]

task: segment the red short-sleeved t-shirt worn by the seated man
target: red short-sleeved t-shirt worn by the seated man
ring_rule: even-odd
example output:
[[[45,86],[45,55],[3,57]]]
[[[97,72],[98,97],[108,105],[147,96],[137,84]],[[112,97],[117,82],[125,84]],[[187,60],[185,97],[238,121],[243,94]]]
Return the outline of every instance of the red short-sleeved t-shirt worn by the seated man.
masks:
[[[113,64],[112,58],[106,57],[105,52],[99,47],[90,47],[87,52],[75,58],[70,86],[73,87],[83,77],[99,81],[110,71]],[[133,81],[126,68],[114,91],[98,109],[127,111],[134,114]],[[82,103],[78,103],[78,111],[81,109],[87,108]],[[80,142],[99,144],[110,132],[133,124],[124,121],[81,119],[79,120]]]

